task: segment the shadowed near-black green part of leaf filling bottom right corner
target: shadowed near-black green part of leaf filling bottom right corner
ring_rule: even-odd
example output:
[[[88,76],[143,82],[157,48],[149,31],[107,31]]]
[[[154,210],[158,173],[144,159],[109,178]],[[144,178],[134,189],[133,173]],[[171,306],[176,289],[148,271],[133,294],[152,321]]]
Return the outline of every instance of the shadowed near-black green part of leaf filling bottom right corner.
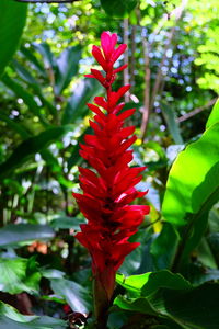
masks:
[[[183,328],[219,328],[219,284],[204,284],[187,292],[161,290],[150,304]]]

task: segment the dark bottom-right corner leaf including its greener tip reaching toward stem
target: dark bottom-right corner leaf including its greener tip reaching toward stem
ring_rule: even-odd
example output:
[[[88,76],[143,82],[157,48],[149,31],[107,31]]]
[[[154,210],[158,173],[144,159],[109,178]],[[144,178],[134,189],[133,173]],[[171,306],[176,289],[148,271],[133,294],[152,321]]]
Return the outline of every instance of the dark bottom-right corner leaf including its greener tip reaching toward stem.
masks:
[[[204,284],[186,290],[159,288],[148,297],[118,296],[114,304],[125,310],[166,317],[185,329],[219,327],[219,284]]]

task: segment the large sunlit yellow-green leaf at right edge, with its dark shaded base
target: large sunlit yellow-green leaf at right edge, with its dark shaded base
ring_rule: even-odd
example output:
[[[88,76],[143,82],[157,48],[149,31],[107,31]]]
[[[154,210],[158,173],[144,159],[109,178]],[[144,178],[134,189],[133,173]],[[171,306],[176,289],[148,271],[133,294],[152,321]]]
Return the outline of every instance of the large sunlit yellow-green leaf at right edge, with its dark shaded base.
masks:
[[[170,171],[162,212],[165,219],[182,228],[181,243],[173,263],[183,265],[198,245],[211,206],[219,200],[219,123],[182,151]],[[185,170],[186,169],[186,170]],[[172,241],[170,241],[172,246]]]

